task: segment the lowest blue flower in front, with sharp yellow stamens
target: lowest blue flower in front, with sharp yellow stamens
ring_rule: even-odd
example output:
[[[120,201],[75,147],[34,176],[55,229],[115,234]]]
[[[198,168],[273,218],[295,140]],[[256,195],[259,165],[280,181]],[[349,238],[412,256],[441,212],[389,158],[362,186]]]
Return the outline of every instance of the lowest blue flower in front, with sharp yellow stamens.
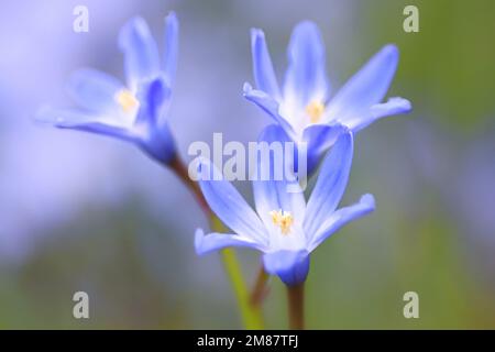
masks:
[[[272,124],[260,136],[261,142],[284,141],[284,131]],[[358,204],[337,209],[352,164],[353,136],[342,133],[322,163],[316,186],[306,204],[302,191],[294,191],[297,182],[287,177],[275,180],[253,180],[256,211],[237,189],[221,178],[219,170],[208,161],[200,164],[200,187],[206,200],[217,216],[234,233],[196,231],[195,246],[198,254],[228,246],[243,246],[264,253],[267,273],[278,275],[287,285],[306,279],[309,254],[345,223],[374,210],[372,195],[364,195]],[[271,168],[275,163],[257,157],[257,169]],[[212,173],[212,175],[211,175]],[[273,175],[272,175],[273,176]],[[268,177],[265,177],[265,179]],[[292,186],[292,191],[288,191]]]

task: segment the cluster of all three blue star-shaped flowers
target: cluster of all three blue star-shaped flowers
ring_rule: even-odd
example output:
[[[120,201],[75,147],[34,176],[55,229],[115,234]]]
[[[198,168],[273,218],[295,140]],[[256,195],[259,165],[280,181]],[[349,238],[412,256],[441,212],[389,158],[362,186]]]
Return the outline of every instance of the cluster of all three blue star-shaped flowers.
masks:
[[[153,158],[176,167],[177,153],[167,123],[178,51],[178,21],[174,13],[165,19],[165,38],[161,59],[144,20],[131,20],[119,37],[127,84],[94,69],[79,70],[69,84],[79,108],[44,108],[38,119],[62,129],[130,141]],[[301,22],[295,28],[282,87],[261,30],[252,30],[251,44],[256,88],[244,84],[243,95],[275,121],[261,132],[258,142],[292,141],[297,146],[305,143],[309,173],[319,164],[321,167],[307,201],[302,189],[297,191],[297,180],[253,180],[253,210],[222,179],[220,170],[208,160],[201,161],[199,174],[205,177],[199,180],[198,193],[200,189],[210,211],[232,233],[205,234],[198,229],[195,246],[198,254],[231,246],[255,249],[263,253],[264,270],[293,286],[306,279],[309,255],[319,244],[375,208],[374,197],[364,195],[356,204],[338,209],[351,172],[354,134],[381,118],[408,112],[411,107],[403,98],[383,102],[398,63],[394,45],[384,46],[331,95],[324,46],[316,24]],[[275,165],[258,158],[256,168],[263,167],[273,174]],[[216,177],[207,177],[211,173]]]

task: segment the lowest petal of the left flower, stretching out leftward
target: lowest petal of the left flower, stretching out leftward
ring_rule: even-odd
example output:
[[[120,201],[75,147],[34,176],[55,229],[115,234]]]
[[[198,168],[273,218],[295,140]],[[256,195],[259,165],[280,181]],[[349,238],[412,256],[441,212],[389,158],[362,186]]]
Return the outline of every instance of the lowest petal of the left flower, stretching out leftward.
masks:
[[[129,129],[112,124],[111,119],[72,109],[42,108],[36,114],[36,121],[50,123],[59,129],[72,129],[114,136],[121,140],[136,142],[138,136]]]

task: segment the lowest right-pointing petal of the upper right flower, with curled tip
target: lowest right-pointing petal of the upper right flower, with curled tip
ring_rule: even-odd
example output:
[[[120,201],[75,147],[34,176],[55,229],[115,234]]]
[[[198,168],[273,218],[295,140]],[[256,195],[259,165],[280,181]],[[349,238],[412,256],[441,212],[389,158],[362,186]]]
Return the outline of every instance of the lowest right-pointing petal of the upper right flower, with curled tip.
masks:
[[[353,132],[358,132],[378,119],[400,113],[409,113],[413,107],[409,100],[403,98],[391,98],[387,102],[372,106],[367,113],[348,119],[345,124]]]

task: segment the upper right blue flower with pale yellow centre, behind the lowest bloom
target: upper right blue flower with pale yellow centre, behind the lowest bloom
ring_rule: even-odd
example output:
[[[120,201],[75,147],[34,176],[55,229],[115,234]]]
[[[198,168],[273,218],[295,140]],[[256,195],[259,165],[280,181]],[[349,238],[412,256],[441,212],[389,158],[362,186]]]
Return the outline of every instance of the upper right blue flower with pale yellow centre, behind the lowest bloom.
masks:
[[[295,28],[282,89],[263,31],[252,30],[251,46],[257,89],[244,84],[244,97],[266,111],[296,143],[307,143],[309,170],[346,129],[356,132],[377,119],[411,110],[403,98],[382,102],[397,68],[394,45],[383,47],[333,97],[323,42],[315,23],[306,21]]]

